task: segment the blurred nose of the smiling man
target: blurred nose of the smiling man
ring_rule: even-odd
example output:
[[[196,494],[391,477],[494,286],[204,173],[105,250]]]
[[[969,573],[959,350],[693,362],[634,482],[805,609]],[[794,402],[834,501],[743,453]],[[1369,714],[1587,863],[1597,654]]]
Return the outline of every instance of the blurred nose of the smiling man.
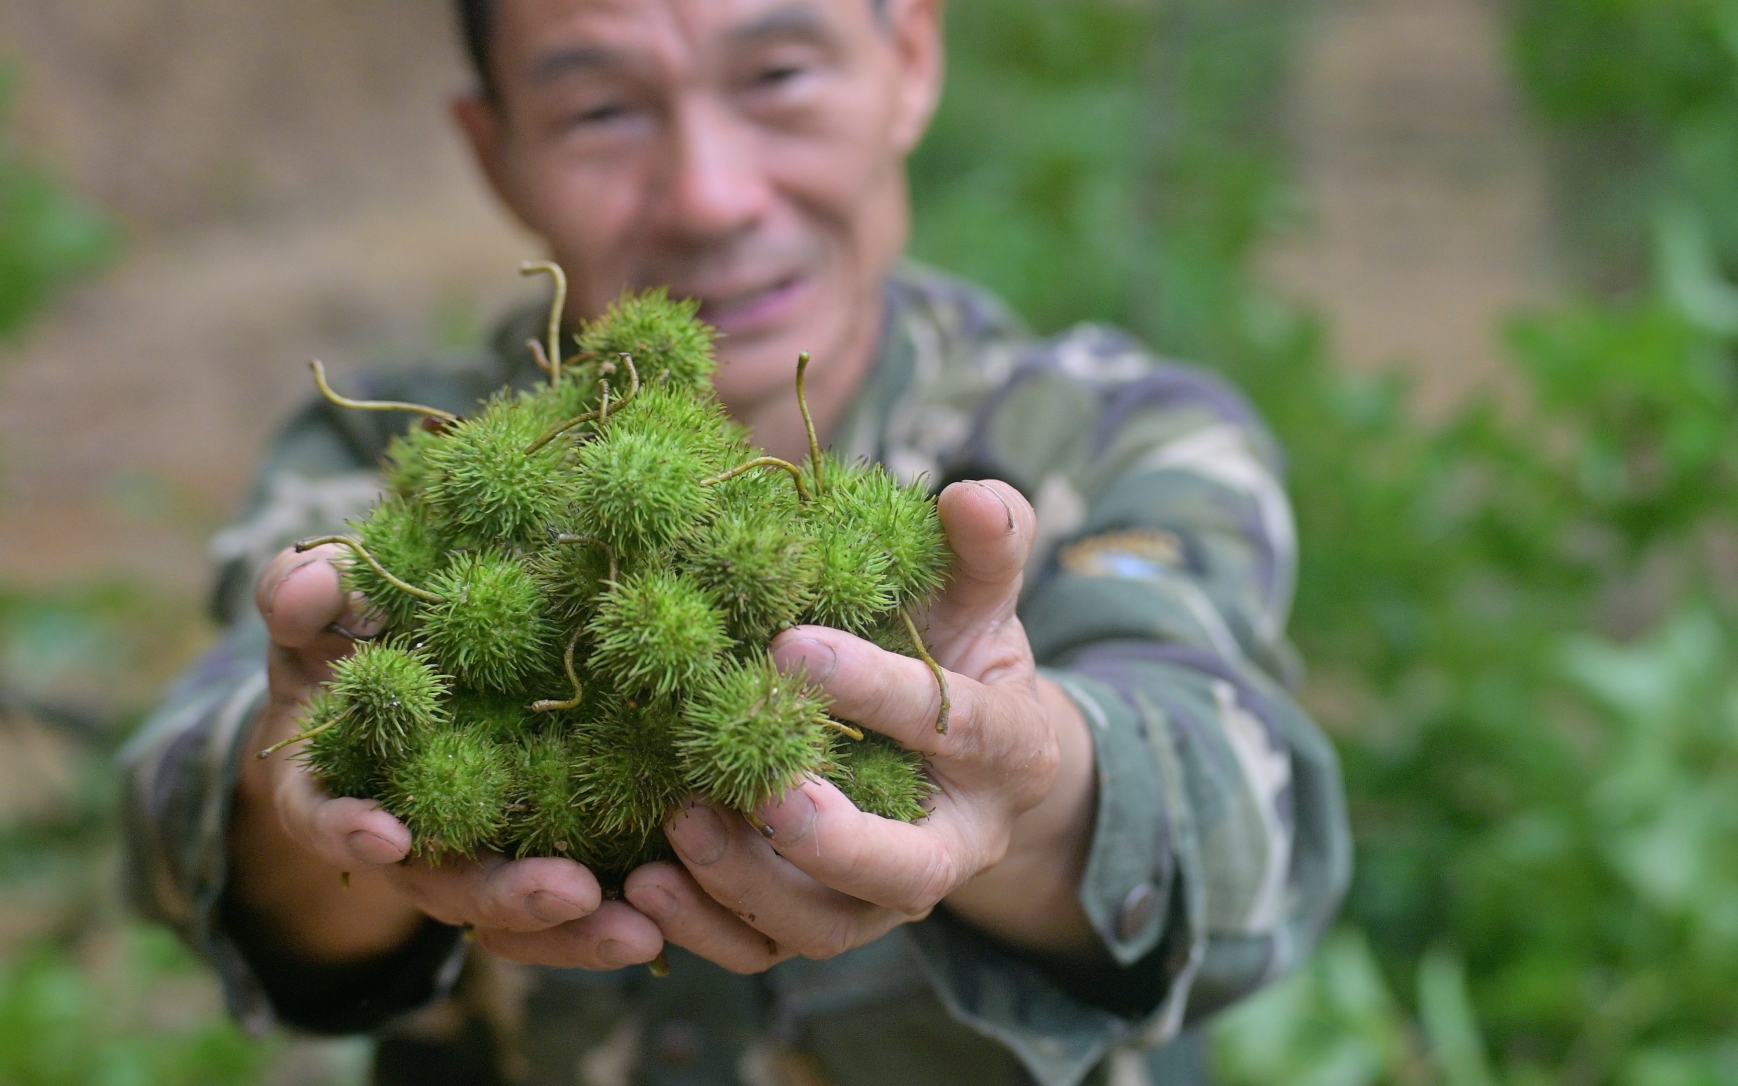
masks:
[[[716,245],[753,229],[770,189],[749,127],[726,109],[693,103],[671,123],[659,221],[687,245]]]

